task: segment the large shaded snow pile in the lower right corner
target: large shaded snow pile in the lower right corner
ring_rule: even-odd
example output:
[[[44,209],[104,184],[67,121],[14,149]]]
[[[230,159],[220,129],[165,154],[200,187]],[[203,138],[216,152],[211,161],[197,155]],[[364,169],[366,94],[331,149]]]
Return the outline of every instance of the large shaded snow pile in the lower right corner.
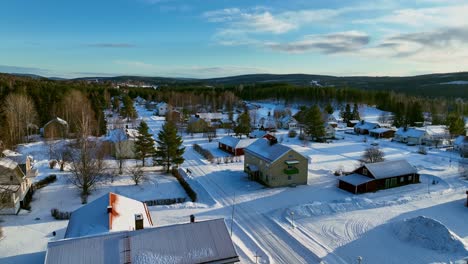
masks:
[[[398,221],[393,224],[395,235],[402,241],[443,252],[467,251],[463,240],[444,224],[425,216]]]

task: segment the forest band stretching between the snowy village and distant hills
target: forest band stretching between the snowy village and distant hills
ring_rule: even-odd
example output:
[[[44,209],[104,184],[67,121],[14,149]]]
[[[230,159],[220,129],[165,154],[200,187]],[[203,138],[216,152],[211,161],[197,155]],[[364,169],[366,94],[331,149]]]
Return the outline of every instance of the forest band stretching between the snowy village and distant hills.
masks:
[[[134,118],[132,98],[165,101],[180,107],[183,114],[200,109],[232,113],[243,100],[273,99],[286,104],[318,105],[324,112],[343,109],[346,118],[357,119],[358,104],[376,105],[394,113],[394,125],[414,125],[424,119],[433,124],[447,124],[452,134],[460,133],[462,117],[468,115],[463,99],[409,96],[384,90],[359,90],[341,87],[296,86],[285,83],[250,85],[162,85],[159,89],[112,88],[111,83],[88,83],[80,80],[54,81],[0,74],[0,121],[5,126],[0,140],[6,146],[25,142],[31,134],[54,117],[66,120],[76,134],[83,116],[91,116],[91,134],[103,135],[106,123],[103,110],[113,106],[122,116]],[[115,100],[111,101],[111,98]],[[120,98],[120,99],[118,99]],[[121,101],[123,107],[121,107]],[[350,104],[347,106],[347,104]],[[422,114],[429,113],[428,116]],[[243,133],[243,132],[242,132]]]

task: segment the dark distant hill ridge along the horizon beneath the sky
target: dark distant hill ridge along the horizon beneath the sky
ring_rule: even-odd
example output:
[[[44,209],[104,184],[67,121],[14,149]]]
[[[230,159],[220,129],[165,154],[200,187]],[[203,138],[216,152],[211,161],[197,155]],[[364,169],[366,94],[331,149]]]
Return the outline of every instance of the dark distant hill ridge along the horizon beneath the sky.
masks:
[[[19,75],[19,74],[18,74]],[[21,75],[40,78],[37,75]],[[51,78],[52,79],[52,78]],[[57,78],[54,78],[57,79]],[[287,83],[300,86],[352,87],[370,90],[393,90],[411,95],[468,98],[468,72],[427,74],[409,77],[339,77],[312,74],[247,74],[209,79],[116,76],[84,77],[74,80],[98,80],[116,83],[138,82],[150,85],[251,85],[256,83]]]

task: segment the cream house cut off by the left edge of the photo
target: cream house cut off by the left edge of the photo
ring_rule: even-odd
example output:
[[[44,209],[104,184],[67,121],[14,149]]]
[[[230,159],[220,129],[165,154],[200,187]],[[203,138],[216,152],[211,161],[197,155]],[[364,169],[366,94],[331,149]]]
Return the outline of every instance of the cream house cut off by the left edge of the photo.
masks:
[[[17,162],[0,158],[0,214],[17,214],[32,198],[31,179]]]

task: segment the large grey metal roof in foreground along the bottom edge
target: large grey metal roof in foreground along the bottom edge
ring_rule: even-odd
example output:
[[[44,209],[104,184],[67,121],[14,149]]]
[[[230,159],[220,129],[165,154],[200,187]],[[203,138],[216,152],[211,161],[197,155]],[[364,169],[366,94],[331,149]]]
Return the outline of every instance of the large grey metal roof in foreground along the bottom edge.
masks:
[[[128,257],[128,258],[127,258]],[[233,263],[239,257],[224,219],[49,242],[46,264]]]

